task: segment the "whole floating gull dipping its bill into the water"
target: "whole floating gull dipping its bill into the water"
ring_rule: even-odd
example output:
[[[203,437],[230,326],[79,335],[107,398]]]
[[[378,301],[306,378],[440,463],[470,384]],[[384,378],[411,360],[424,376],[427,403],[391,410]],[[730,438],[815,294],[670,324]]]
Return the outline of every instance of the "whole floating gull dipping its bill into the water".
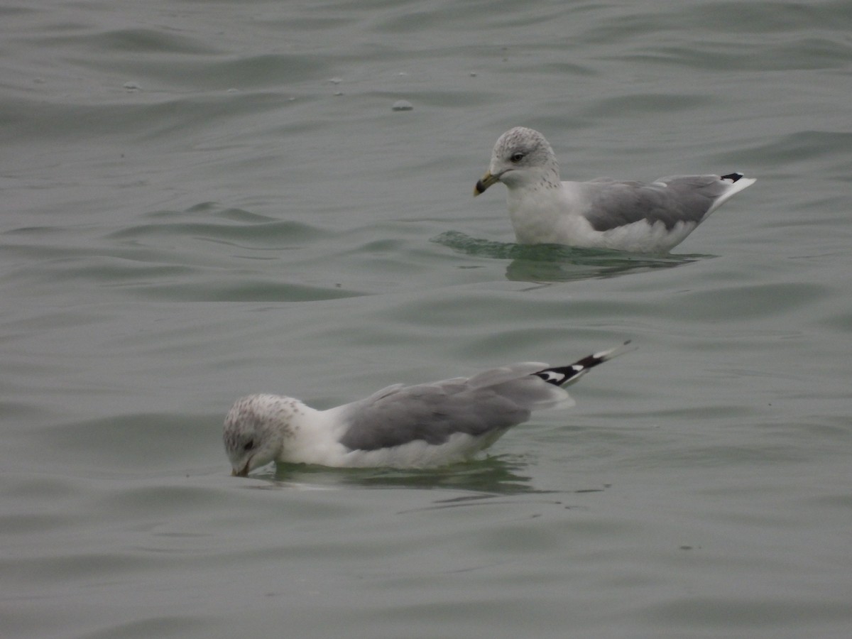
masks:
[[[237,400],[223,440],[233,475],[278,462],[423,468],[470,458],[533,410],[571,406],[563,386],[624,353],[630,342],[570,366],[524,362],[473,377],[394,384],[363,400],[318,411],[291,397]]]

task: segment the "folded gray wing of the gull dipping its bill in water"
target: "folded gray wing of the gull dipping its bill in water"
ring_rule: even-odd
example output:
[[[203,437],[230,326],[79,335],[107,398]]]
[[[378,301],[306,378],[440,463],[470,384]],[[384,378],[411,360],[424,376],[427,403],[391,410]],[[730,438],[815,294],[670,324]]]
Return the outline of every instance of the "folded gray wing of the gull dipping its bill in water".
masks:
[[[354,402],[349,405],[349,426],[340,443],[367,451],[415,440],[440,445],[455,433],[477,436],[508,429],[526,422],[534,408],[571,400],[565,390],[527,372],[521,377],[514,372],[506,380],[496,371],[503,370],[392,389]],[[471,383],[486,373],[494,373],[498,383]]]

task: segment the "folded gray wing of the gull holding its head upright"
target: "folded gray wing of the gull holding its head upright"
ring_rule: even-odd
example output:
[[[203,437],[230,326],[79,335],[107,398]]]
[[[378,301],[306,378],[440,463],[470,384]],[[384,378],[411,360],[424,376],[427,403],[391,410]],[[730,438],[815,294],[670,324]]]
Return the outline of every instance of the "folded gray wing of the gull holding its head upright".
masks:
[[[731,187],[719,176],[670,176],[644,183],[598,178],[584,182],[590,208],[585,218],[596,231],[647,220],[671,229],[677,222],[699,224]]]

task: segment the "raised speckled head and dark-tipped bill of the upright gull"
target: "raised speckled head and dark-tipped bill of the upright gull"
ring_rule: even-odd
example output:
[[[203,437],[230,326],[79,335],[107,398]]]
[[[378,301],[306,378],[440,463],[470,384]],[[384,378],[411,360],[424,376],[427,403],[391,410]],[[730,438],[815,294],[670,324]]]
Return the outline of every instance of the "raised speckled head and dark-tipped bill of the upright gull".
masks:
[[[491,155],[488,171],[474,187],[474,197],[497,182],[507,187],[527,187],[543,183],[558,187],[559,163],[544,135],[516,126],[500,135]]]

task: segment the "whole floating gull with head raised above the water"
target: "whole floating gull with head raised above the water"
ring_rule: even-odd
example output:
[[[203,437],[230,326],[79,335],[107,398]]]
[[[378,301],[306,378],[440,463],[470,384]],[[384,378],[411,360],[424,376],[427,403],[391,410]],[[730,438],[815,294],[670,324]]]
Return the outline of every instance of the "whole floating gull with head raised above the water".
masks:
[[[500,135],[474,196],[497,182],[506,185],[509,217],[521,244],[665,253],[755,181],[728,173],[661,177],[653,182],[609,177],[563,182],[556,154],[544,135],[519,126]]]

